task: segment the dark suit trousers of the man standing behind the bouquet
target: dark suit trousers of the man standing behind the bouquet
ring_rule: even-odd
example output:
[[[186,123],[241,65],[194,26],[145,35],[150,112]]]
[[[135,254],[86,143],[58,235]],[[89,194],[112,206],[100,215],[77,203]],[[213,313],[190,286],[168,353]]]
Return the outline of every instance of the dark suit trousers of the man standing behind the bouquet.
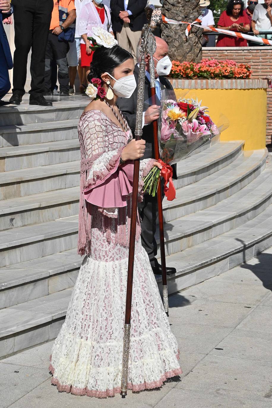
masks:
[[[143,159],[152,159],[155,157],[155,153],[151,143],[146,143],[146,150],[144,152]],[[163,184],[162,184],[163,185]],[[163,188],[162,195],[164,197]],[[162,198],[163,198],[162,197]],[[142,219],[142,246],[146,250],[151,266],[154,266],[154,259],[157,255],[157,242],[155,239],[157,229],[157,217],[158,217],[158,201],[157,194],[155,197],[152,195],[144,194],[144,199],[138,204],[139,216]]]

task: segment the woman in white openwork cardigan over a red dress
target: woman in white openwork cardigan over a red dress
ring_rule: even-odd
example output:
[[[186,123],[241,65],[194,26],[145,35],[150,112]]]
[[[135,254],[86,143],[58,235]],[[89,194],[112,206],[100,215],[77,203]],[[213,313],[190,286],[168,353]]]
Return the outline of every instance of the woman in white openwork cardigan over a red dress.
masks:
[[[111,13],[108,7],[102,3],[102,0],[88,2],[84,4],[80,11],[78,33],[81,35],[81,66],[85,68],[86,77],[90,72],[90,64],[94,53],[90,48],[91,42],[88,37],[93,35],[94,27],[101,27],[113,35]]]

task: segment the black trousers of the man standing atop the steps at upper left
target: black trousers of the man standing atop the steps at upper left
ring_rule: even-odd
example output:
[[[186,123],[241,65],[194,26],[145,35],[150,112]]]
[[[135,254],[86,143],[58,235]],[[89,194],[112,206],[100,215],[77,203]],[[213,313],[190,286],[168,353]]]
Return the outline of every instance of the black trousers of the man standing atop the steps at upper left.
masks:
[[[15,51],[13,57],[13,93],[24,95],[27,78],[27,56],[31,53],[31,91],[44,93],[45,49],[53,0],[12,0],[14,8]]]

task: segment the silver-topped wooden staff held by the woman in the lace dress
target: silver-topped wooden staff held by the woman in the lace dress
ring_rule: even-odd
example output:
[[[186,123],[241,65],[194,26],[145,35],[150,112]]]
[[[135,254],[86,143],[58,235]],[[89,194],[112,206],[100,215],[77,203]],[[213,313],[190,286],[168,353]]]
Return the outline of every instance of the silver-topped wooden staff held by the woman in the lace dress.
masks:
[[[142,118],[144,110],[144,82],[146,77],[145,55],[147,54],[147,39],[150,28],[148,24],[143,27],[142,42],[141,42],[141,62],[139,63],[139,82],[137,95],[137,110],[136,110],[136,128],[135,140],[142,138]],[[139,159],[134,160],[133,173],[133,188],[132,188],[132,205],[131,205],[131,220],[130,220],[130,238],[128,252],[128,280],[126,287],[126,314],[124,324],[124,348],[122,359],[122,378],[121,378],[121,395],[126,397],[128,389],[128,358],[130,346],[130,317],[131,317],[131,301],[132,301],[132,284],[133,284],[133,266],[135,253],[135,235],[136,235],[136,220],[137,220],[137,204],[138,204],[138,184],[139,184]]]

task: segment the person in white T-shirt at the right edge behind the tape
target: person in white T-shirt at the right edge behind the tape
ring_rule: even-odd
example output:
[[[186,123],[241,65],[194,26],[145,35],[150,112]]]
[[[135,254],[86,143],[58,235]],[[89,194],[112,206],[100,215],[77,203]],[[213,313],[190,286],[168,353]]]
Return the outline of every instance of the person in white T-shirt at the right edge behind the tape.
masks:
[[[259,35],[260,31],[272,31],[272,0],[265,0],[262,4],[257,4],[254,9],[251,27],[254,35]],[[272,33],[271,33],[272,34]],[[259,35],[263,37],[264,35]],[[267,36],[271,40],[272,35]]]

